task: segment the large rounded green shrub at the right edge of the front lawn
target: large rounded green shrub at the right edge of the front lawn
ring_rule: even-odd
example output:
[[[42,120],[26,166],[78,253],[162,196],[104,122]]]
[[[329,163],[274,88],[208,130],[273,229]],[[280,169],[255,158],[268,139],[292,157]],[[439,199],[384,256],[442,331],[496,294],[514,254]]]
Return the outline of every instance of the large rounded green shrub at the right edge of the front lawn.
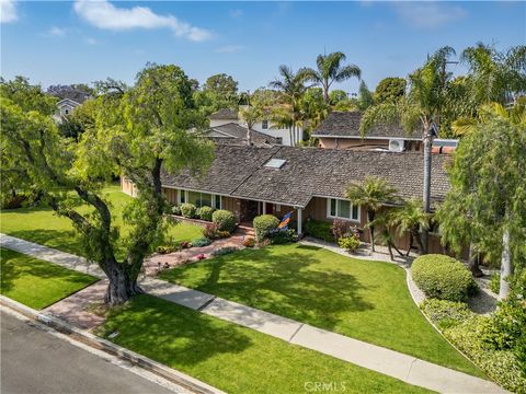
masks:
[[[466,301],[477,285],[466,266],[453,257],[428,254],[418,257],[411,266],[416,286],[430,298]]]

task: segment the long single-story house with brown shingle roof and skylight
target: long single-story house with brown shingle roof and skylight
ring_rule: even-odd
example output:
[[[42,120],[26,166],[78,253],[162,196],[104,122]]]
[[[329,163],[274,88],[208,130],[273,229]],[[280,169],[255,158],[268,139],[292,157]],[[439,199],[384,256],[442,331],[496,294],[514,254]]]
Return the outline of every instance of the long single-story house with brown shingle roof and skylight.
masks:
[[[444,163],[437,155],[432,164],[432,200],[444,199],[449,183]],[[385,178],[398,197],[422,197],[423,157],[419,152],[393,153],[366,150],[328,150],[319,148],[256,148],[217,144],[213,164],[203,177],[183,171],[162,173],[163,192],[171,204],[192,202],[235,213],[238,222],[251,223],[255,216],[273,213],[281,218],[294,210],[294,225],[304,233],[308,218],[347,220],[364,229],[366,212],[345,199],[345,187],[367,175]],[[125,193],[135,194],[134,185],[122,179]],[[368,241],[367,232],[362,232]],[[399,240],[404,247],[408,239]],[[438,236],[432,236],[430,251],[442,253]]]

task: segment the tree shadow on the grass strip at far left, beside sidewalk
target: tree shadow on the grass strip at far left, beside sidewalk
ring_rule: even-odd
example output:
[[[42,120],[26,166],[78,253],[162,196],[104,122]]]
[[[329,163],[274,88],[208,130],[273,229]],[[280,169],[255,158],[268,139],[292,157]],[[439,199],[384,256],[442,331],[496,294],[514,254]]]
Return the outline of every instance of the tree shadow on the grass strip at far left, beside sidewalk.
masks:
[[[62,279],[71,285],[79,285],[79,287],[84,287],[99,280],[98,278],[64,268],[53,263],[38,260],[3,247],[0,250],[0,253],[2,292],[13,290],[14,281],[27,276],[39,279]],[[27,290],[32,289],[28,288]]]

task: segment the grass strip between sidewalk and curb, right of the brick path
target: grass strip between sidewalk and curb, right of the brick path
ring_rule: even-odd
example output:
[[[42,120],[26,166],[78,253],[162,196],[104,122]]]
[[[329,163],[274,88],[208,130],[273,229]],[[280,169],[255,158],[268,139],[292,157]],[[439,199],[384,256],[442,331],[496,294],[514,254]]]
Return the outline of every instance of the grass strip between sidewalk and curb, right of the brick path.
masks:
[[[345,393],[427,392],[150,296],[111,312],[99,334],[114,331],[110,340],[228,393],[305,393],[315,382]]]

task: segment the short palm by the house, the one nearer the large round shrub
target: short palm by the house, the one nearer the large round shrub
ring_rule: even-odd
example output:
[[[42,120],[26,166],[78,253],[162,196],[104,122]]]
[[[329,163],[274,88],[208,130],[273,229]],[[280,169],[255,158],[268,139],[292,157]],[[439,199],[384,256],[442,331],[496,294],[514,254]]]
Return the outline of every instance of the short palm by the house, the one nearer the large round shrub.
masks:
[[[421,200],[413,198],[403,201],[401,208],[391,212],[389,221],[397,229],[398,235],[403,236],[409,233],[409,248],[405,256],[409,256],[413,242],[416,242],[420,251],[423,251],[420,229],[430,228],[430,213],[424,211]]]

